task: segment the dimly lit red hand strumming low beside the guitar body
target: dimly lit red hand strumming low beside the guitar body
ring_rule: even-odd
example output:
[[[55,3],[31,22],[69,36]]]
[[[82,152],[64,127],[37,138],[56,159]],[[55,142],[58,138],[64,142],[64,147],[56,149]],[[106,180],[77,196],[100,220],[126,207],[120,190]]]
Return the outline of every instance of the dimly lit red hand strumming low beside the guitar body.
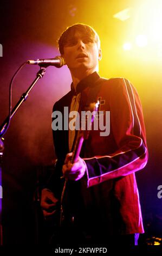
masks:
[[[59,200],[55,198],[54,193],[50,190],[42,190],[41,194],[41,207],[44,217],[55,214]]]

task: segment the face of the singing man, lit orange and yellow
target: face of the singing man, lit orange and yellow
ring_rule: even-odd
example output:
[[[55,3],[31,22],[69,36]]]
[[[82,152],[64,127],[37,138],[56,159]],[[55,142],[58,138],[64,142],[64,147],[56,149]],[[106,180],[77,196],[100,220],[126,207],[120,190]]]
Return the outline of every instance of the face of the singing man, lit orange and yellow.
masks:
[[[98,61],[101,59],[101,50],[98,49],[96,42],[89,35],[75,32],[67,44],[64,46],[62,55],[70,71],[92,72],[98,70]]]

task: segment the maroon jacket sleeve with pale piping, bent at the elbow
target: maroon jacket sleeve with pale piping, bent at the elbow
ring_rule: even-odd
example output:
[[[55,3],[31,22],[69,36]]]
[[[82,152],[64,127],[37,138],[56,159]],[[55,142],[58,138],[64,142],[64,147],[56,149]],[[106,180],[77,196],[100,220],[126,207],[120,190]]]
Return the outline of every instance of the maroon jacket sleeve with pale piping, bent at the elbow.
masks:
[[[147,163],[145,125],[137,90],[128,80],[118,78],[109,105],[118,150],[113,154],[83,159],[87,166],[88,186],[131,174]]]

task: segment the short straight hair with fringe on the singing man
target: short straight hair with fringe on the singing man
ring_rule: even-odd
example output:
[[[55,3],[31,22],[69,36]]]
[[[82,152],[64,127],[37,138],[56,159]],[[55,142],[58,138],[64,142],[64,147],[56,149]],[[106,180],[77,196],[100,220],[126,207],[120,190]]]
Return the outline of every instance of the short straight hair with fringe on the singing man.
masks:
[[[75,34],[75,32],[81,32],[82,34],[88,35],[90,39],[96,42],[98,48],[100,48],[100,38],[95,30],[86,24],[76,23],[70,27],[67,27],[67,29],[62,32],[60,38],[58,39],[59,51],[61,54],[64,53],[63,47],[66,45],[69,38]]]

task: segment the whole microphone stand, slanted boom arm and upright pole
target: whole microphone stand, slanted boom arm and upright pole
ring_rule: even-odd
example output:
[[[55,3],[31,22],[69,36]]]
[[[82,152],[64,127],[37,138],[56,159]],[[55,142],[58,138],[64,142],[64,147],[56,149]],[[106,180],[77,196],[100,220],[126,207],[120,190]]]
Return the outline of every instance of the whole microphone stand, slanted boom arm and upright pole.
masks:
[[[11,117],[10,119],[14,116],[14,114],[17,112],[18,108],[22,105],[22,103],[27,100],[28,94],[30,93],[31,89],[35,86],[36,82],[42,78],[46,72],[46,68],[48,65],[41,66],[41,69],[37,72],[36,78],[31,83],[31,86],[28,88],[28,90],[22,94],[20,97],[20,100],[16,103],[15,107],[11,111]],[[5,127],[8,124],[9,120],[9,115],[8,117],[3,121],[2,125],[0,126],[0,245],[3,245],[3,234],[2,234],[2,156],[3,156],[3,150],[4,150],[4,145],[3,142],[1,141],[1,137],[4,134]]]

